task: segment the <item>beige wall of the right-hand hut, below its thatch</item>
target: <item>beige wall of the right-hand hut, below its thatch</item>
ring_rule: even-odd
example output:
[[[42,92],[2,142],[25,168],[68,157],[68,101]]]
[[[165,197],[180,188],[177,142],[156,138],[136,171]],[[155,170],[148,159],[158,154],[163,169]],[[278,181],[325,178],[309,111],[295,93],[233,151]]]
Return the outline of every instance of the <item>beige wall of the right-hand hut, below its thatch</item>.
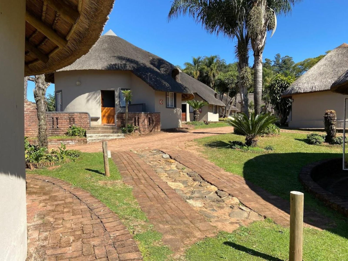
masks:
[[[344,98],[348,95],[330,91],[293,95],[289,127],[323,128],[326,110],[335,110],[337,127],[343,128]]]

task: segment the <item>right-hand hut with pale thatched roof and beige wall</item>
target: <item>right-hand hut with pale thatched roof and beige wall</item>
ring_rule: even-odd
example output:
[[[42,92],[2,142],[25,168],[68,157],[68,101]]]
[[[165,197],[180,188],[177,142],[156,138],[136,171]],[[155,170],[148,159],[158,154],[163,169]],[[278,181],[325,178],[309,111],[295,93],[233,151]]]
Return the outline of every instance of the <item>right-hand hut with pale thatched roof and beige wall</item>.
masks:
[[[330,87],[348,70],[347,61],[348,45],[342,44],[285,90],[283,97],[293,99],[289,127],[322,128],[324,112],[329,109],[337,113],[337,127],[343,127],[342,95],[331,92]]]

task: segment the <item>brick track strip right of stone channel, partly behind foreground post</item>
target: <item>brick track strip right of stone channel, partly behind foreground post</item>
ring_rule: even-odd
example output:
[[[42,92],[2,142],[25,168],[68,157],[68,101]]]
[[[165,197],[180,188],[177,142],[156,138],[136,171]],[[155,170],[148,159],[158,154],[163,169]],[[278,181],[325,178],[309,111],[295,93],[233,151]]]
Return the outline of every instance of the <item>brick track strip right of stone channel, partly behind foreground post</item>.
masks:
[[[243,177],[224,171],[210,161],[187,150],[164,149],[176,161],[198,173],[202,179],[215,185],[219,190],[237,197],[245,206],[270,217],[276,223],[289,226],[290,203],[266,190],[247,182]],[[315,212],[304,212],[304,222],[310,226],[327,228],[331,221]]]

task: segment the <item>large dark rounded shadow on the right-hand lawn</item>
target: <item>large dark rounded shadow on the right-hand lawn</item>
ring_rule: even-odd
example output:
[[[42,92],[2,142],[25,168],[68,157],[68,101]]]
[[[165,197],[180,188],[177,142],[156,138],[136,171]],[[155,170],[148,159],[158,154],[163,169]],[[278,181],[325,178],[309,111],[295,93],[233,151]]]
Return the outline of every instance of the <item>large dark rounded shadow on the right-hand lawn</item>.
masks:
[[[337,157],[341,157],[341,154],[304,152],[262,154],[244,163],[243,177],[251,190],[288,214],[290,214],[290,191],[304,192],[304,222],[348,238],[347,218],[338,212],[334,214],[334,210],[332,213],[336,221],[325,216],[324,203],[305,192],[299,180],[302,167],[322,159]],[[323,208],[318,208],[318,205],[322,205]],[[330,211],[329,207],[327,209]]]

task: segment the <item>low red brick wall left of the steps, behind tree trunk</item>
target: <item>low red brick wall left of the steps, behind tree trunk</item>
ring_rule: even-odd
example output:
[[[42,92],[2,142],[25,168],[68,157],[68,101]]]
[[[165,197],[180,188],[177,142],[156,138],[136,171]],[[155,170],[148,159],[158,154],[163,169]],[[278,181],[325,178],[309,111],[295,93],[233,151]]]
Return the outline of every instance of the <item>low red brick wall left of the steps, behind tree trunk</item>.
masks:
[[[89,129],[89,114],[87,112],[47,112],[46,124],[48,136],[63,135],[72,125]],[[24,135],[28,137],[38,135],[36,104],[30,101],[24,102]]]

